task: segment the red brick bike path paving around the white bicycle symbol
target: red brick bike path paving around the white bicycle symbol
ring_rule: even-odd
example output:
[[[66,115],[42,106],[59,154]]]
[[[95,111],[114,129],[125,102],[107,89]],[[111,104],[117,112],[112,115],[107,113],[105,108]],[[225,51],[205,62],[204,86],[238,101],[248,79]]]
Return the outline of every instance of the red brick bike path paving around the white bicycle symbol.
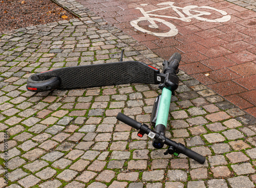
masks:
[[[173,23],[179,32],[174,37],[163,38],[137,31],[130,21],[143,17],[135,9],[141,4],[148,4],[143,6],[145,11],[154,10],[166,7],[157,4],[167,0],[77,1],[164,59],[174,52],[180,52],[181,70],[256,117],[256,12],[223,0],[175,1],[174,5],[178,7],[214,7],[226,11],[231,19],[226,22],[206,22],[191,18],[191,22],[184,22],[161,18]],[[221,15],[214,10],[207,11],[212,13],[209,15],[211,18]],[[178,16],[171,9],[156,13]],[[148,23],[143,21],[143,24]]]

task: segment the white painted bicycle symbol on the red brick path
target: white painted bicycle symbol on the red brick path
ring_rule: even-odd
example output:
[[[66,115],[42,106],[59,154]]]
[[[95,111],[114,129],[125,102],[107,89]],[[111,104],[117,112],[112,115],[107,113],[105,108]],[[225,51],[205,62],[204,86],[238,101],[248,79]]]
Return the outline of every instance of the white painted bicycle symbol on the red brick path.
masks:
[[[168,22],[168,21],[165,21],[164,19],[152,18],[150,16],[158,16],[158,17],[163,17],[163,18],[173,18],[173,19],[179,19],[179,20],[186,21],[186,22],[191,21],[191,18],[195,18],[195,19],[198,19],[198,20],[201,20],[201,21],[208,21],[208,22],[225,22],[225,21],[230,20],[230,18],[231,18],[231,16],[227,15],[227,13],[225,11],[218,10],[216,8],[212,8],[212,7],[209,7],[209,6],[198,7],[196,5],[189,5],[189,6],[186,6],[186,7],[182,8],[182,7],[176,7],[173,4],[174,4],[174,2],[160,3],[160,4],[157,4],[157,5],[169,5],[169,6],[164,7],[164,8],[151,10],[151,11],[144,11],[143,8],[137,7],[136,9],[140,10],[141,13],[144,15],[144,17],[139,17],[139,19],[131,21],[131,25],[134,26],[135,29],[137,29],[137,30],[139,30],[143,33],[148,33],[148,34],[152,34],[152,35],[159,36],[159,37],[171,37],[171,36],[175,36],[175,35],[178,34],[178,30],[176,29],[176,26],[174,24]],[[142,4],[141,6],[146,6],[146,5],[147,4]],[[169,8],[173,9],[180,17],[151,14],[152,12],[161,11],[161,10],[169,9]],[[210,12],[205,12],[205,11],[199,11],[198,10],[199,8],[210,9],[211,11],[214,10],[214,11],[219,12],[223,16],[220,17],[220,18],[217,18],[217,19],[207,19],[207,18],[201,17],[201,16],[211,15],[211,13]],[[187,17],[185,17],[185,15],[181,11],[179,11],[178,9],[182,10],[182,12],[185,15],[187,15]],[[194,14],[192,14],[192,13],[194,13]],[[150,28],[158,29],[159,26],[155,22],[155,21],[157,21],[157,22],[165,24],[168,28],[170,28],[170,31],[168,31],[166,33],[155,33],[155,32],[151,32],[151,31],[148,31],[146,29],[143,29],[143,28],[141,28],[141,26],[139,26],[138,23],[140,21],[145,21],[145,20],[150,22],[150,25],[148,25],[148,27],[150,27]]]

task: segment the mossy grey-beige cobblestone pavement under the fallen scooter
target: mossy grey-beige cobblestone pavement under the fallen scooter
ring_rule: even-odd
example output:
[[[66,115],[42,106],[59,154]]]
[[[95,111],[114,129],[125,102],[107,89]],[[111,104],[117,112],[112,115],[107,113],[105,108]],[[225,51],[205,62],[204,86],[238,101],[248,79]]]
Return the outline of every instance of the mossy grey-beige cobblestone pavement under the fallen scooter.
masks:
[[[82,18],[1,34],[0,187],[255,187],[256,120],[183,71],[166,135],[206,156],[203,165],[164,155],[117,121],[123,112],[148,123],[156,85],[27,91],[32,73],[117,62],[121,49],[124,61],[163,61],[75,1],[61,3]]]

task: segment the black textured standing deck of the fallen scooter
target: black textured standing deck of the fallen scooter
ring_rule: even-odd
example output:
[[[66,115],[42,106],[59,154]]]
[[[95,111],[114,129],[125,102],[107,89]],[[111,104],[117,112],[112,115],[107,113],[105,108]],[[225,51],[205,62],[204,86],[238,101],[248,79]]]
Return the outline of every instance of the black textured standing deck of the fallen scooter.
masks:
[[[33,74],[37,80],[57,76],[60,84],[54,89],[75,89],[128,83],[158,84],[157,68],[137,61],[65,67]],[[33,76],[32,75],[32,76]],[[29,83],[29,82],[28,82]],[[30,83],[30,87],[33,84]]]

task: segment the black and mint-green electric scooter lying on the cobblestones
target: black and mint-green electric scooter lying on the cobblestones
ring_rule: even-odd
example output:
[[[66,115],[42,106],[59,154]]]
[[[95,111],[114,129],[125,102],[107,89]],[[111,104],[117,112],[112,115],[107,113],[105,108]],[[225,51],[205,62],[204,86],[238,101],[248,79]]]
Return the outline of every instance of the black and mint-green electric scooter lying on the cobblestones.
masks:
[[[33,74],[27,80],[27,89],[41,92],[52,89],[76,89],[128,83],[159,84],[162,94],[156,98],[151,116],[151,125],[154,130],[122,113],[119,113],[116,118],[138,129],[139,137],[146,134],[152,138],[155,148],[163,148],[166,144],[168,149],[164,154],[178,156],[182,153],[203,164],[204,156],[165,137],[170,99],[179,84],[177,73],[181,55],[174,53],[168,61],[164,61],[163,72],[160,73],[159,69],[142,62],[122,62],[122,54],[123,51],[120,62],[116,63],[65,67]]]

